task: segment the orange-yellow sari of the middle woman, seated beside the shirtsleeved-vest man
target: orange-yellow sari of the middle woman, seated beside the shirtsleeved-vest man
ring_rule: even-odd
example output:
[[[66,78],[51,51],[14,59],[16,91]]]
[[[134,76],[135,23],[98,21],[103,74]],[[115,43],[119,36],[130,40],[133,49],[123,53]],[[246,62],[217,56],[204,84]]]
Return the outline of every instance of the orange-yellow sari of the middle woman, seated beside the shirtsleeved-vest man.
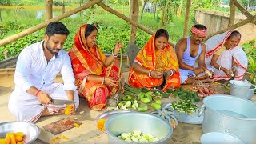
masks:
[[[180,86],[178,59],[174,48],[167,44],[163,50],[156,51],[155,33],[151,36],[149,42],[146,43],[146,46],[138,52],[134,62],[148,70],[175,70],[176,74],[167,78],[166,86],[163,90],[166,90],[169,86]],[[145,74],[138,74],[132,68],[130,69],[128,80],[130,85],[135,87],[150,88],[162,83],[162,78],[151,78]]]

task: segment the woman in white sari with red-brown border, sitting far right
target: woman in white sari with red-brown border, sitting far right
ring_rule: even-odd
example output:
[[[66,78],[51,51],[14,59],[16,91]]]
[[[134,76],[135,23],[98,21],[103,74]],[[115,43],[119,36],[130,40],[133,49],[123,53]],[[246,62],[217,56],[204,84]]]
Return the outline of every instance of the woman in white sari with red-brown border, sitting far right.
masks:
[[[241,80],[247,69],[246,53],[238,46],[241,34],[237,31],[226,31],[206,41],[206,66],[214,71],[213,79]]]

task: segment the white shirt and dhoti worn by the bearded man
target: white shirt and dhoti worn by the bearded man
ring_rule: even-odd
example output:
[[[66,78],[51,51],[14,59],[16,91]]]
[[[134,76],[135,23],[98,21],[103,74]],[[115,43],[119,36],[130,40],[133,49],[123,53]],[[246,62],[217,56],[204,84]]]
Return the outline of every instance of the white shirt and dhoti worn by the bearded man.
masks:
[[[70,57],[65,50],[60,50],[58,56],[47,63],[43,52],[43,41],[27,46],[18,56],[14,83],[15,90],[10,95],[9,110],[20,121],[35,122],[41,116],[42,111],[48,108],[50,113],[58,113],[65,106],[42,105],[38,98],[26,93],[31,86],[50,94],[51,98],[67,99],[64,90],[76,90],[74,74],[71,67]],[[57,74],[62,75],[64,84],[55,83]],[[78,93],[75,91],[74,101],[76,108],[79,105]]]

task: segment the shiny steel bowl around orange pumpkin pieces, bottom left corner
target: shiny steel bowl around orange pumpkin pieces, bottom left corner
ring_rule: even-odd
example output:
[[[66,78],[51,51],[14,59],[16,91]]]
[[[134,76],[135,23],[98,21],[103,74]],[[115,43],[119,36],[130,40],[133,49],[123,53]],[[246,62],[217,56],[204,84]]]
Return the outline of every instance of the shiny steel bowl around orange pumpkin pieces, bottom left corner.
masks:
[[[6,133],[23,132],[25,135],[24,142],[32,143],[40,134],[38,126],[31,122],[2,122],[0,123],[0,138],[5,138]]]

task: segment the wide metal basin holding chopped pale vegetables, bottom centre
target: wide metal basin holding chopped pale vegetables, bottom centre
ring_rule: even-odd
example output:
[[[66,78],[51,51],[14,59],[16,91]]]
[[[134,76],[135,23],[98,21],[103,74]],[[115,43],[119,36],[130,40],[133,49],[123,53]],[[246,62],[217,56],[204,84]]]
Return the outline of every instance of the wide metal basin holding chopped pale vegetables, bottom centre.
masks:
[[[137,112],[115,114],[106,120],[106,133],[109,137],[109,143],[129,144],[133,142],[126,142],[119,139],[117,136],[122,132],[132,132],[134,130],[142,131],[146,134],[151,134],[160,139],[158,142],[149,143],[168,143],[173,128],[170,124],[162,118],[158,118],[151,114],[143,114]],[[136,142],[134,142],[136,143]]]

